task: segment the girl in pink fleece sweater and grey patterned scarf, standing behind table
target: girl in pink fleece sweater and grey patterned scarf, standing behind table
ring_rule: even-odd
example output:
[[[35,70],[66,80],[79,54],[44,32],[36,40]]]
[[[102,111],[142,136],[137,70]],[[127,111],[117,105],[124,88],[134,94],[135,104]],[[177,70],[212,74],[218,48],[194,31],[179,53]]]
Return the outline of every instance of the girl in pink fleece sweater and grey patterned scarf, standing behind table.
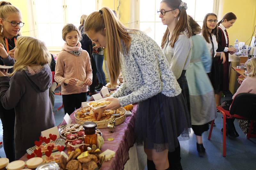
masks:
[[[67,24],[62,29],[62,39],[65,42],[56,61],[56,82],[61,84],[62,101],[65,113],[69,115],[87,101],[88,86],[92,84],[92,67],[90,56],[82,50],[79,39],[80,31],[73,24]],[[76,86],[76,80],[84,81],[84,87]]]

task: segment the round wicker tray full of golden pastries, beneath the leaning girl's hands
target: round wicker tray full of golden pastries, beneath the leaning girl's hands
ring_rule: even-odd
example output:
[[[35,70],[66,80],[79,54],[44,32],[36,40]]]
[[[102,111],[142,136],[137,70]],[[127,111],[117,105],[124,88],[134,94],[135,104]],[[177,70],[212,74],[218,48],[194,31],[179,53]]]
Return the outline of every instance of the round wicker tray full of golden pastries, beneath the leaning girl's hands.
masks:
[[[120,107],[117,110],[105,110],[101,116],[100,121],[97,121],[93,117],[93,108],[86,106],[75,111],[75,121],[77,124],[84,124],[84,122],[92,121],[97,123],[97,128],[107,128],[108,122],[113,115],[116,118],[116,125],[125,121],[126,110]]]

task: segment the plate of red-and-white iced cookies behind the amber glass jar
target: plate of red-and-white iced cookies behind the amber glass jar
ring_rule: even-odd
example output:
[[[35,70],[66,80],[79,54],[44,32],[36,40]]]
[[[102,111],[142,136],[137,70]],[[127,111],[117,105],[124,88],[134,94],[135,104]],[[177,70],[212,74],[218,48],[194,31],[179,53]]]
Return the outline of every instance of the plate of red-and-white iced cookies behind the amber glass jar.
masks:
[[[96,132],[102,136],[102,133],[99,129],[96,128]],[[84,128],[81,124],[65,124],[59,128],[60,136],[64,139],[70,140],[73,136],[77,138],[84,136]],[[73,135],[70,135],[73,134]]]

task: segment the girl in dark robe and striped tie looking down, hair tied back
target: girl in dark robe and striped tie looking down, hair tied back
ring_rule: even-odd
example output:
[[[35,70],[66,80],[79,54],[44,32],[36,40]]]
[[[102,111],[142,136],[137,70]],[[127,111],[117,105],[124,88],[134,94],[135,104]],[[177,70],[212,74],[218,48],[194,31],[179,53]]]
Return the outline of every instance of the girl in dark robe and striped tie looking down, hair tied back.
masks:
[[[216,105],[220,105],[220,98],[222,91],[228,91],[229,89],[229,67],[228,67],[228,53],[231,55],[236,52],[234,47],[229,47],[229,38],[227,29],[233,26],[236,22],[236,15],[229,12],[223,16],[221,21],[218,23],[218,52],[224,52],[226,56],[226,62],[223,64],[223,80],[220,85],[220,93],[218,93],[218,99]]]

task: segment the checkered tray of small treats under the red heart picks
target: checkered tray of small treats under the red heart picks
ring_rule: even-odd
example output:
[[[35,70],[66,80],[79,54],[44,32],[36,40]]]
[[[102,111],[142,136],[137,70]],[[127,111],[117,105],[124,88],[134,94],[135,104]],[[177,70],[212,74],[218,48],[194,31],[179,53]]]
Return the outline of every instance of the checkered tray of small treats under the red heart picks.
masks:
[[[58,149],[57,149],[58,145],[65,147],[65,142],[66,142],[65,139],[59,138],[59,139],[56,139],[55,141],[50,142],[50,143],[48,143],[48,144],[42,143],[41,145],[39,144],[40,146],[33,146],[33,147],[31,147],[31,148],[28,148],[28,149],[27,149],[27,153],[30,155],[30,154],[33,153],[36,149],[41,148],[42,153],[44,154],[44,153],[48,150],[48,149],[47,149],[48,146],[53,146],[52,152],[56,152],[56,151],[58,151]]]

